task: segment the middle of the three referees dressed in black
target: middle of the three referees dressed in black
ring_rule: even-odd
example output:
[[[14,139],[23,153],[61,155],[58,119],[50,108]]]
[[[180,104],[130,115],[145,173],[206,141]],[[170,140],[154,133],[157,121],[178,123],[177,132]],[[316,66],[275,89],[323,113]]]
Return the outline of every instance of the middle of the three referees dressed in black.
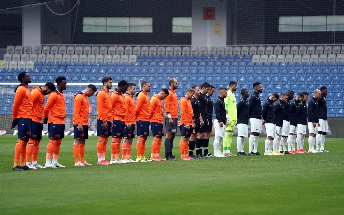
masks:
[[[207,82],[204,82],[201,84],[201,93],[198,96],[198,100],[200,101],[201,107],[200,107],[200,112],[201,112],[201,117],[203,119],[203,126],[200,128],[198,131],[197,135],[197,140],[196,140],[196,146],[200,146],[200,154],[197,152],[198,157],[205,157],[202,154],[202,146],[204,142],[204,136],[205,136],[205,128],[208,126],[208,120],[207,120],[207,105],[208,105],[208,99],[206,99],[206,94],[208,93],[208,90],[210,88],[210,84]]]

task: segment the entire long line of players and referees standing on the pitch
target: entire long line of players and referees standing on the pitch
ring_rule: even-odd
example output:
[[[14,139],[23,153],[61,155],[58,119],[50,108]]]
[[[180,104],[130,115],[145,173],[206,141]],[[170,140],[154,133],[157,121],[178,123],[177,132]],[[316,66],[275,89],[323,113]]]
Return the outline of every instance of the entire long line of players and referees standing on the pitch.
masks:
[[[65,130],[64,118],[66,117],[66,112],[63,90],[67,87],[66,78],[56,78],[56,88],[52,82],[48,82],[43,87],[34,87],[31,93],[28,88],[28,84],[31,83],[30,75],[22,72],[18,75],[18,79],[21,84],[15,90],[13,122],[11,126],[11,128],[14,128],[18,125],[18,141],[15,147],[13,170],[64,167],[58,163],[58,154]],[[88,122],[88,97],[95,92],[97,92],[97,136],[99,136],[97,164],[109,165],[113,163],[179,160],[172,155],[173,139],[179,126],[182,134],[180,141],[182,160],[214,157],[208,152],[214,109],[214,103],[210,98],[215,93],[213,85],[205,82],[201,87],[194,85],[186,90],[185,96],[180,99],[179,105],[182,117],[180,125],[177,125],[178,97],[175,89],[178,88],[178,81],[176,79],[171,78],[170,88],[162,89],[160,93],[154,94],[151,99],[148,96],[151,89],[150,83],[143,81],[141,84],[142,90],[136,94],[137,104],[135,104],[133,98],[133,95],[136,93],[135,84],[121,80],[118,83],[118,88],[111,95],[109,92],[109,89],[112,88],[111,77],[104,77],[102,82],[103,89],[98,92],[96,86],[90,84],[82,92],[78,92],[74,96],[73,124],[75,141],[73,153],[75,166],[92,165],[85,161],[84,152],[85,140],[88,138],[88,130],[90,129]],[[308,93],[299,93],[296,99],[290,103],[290,100],[293,98],[293,92],[289,90],[288,93],[282,93],[280,100],[272,106],[272,103],[279,97],[278,94],[273,94],[264,103],[263,110],[261,110],[259,93],[261,93],[262,86],[258,82],[254,83],[253,86],[255,92],[250,96],[250,103],[247,101],[248,90],[242,89],[241,95],[243,98],[237,106],[233,93],[237,89],[236,82],[230,82],[228,98],[227,89],[223,87],[219,89],[219,97],[215,101],[215,157],[235,156],[230,152],[235,125],[237,125],[239,132],[237,155],[261,155],[257,151],[257,146],[261,125],[264,125],[264,123],[266,123],[268,132],[266,155],[305,153],[303,150],[303,138],[307,124],[307,106],[305,101],[308,100]],[[50,95],[46,105],[43,106],[45,95],[47,94]],[[323,148],[327,132],[326,95],[327,88],[322,87],[321,92],[320,90],[315,90],[314,97],[309,102],[311,105],[308,108],[308,121],[310,121],[309,152],[326,151]],[[162,105],[162,100],[164,99],[166,112],[165,127],[167,128],[164,142],[165,159],[160,157],[162,136],[164,136]],[[249,153],[246,154],[243,149],[244,138],[248,136],[249,118],[252,132],[249,140]],[[261,118],[263,118],[262,121]],[[320,118],[320,123],[318,118]],[[42,122],[44,124],[49,123],[49,143],[47,145],[44,167],[37,163],[37,154],[43,130]],[[290,135],[288,137],[289,124]],[[144,157],[146,140],[149,136],[149,126],[151,126],[154,137],[151,159]],[[319,129],[317,129],[317,126]],[[297,128],[299,128],[297,136],[298,150],[294,150],[294,136],[297,133]],[[137,159],[133,161],[130,159],[130,152],[132,141],[135,137],[135,129],[139,138],[136,144]],[[269,135],[270,133],[271,135]],[[112,136],[110,162],[105,160],[109,136]],[[289,151],[286,148],[287,137]],[[121,148],[122,138],[124,138],[124,142]],[[281,138],[283,139],[281,140]],[[317,150],[313,149],[315,139]],[[220,151],[222,142],[224,142],[223,153]],[[272,144],[272,142],[275,144]],[[319,148],[319,142],[321,143],[321,148]],[[202,154],[202,147],[204,154]],[[193,154],[195,148],[196,155]],[[119,159],[120,149],[122,149],[121,159]],[[32,164],[30,163],[31,155]],[[21,160],[20,164],[19,158]],[[52,161],[51,158],[53,158]]]

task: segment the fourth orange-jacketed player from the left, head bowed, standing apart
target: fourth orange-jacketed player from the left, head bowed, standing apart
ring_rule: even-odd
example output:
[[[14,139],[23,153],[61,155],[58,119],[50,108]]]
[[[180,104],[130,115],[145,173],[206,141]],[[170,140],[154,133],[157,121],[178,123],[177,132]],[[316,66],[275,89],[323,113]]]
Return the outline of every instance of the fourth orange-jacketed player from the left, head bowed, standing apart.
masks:
[[[85,141],[88,139],[89,125],[89,101],[88,97],[97,92],[97,87],[93,84],[87,85],[86,89],[74,95],[73,99],[73,125],[74,143],[73,154],[75,159],[74,166],[92,166],[85,161]],[[79,161],[80,154],[80,161]]]

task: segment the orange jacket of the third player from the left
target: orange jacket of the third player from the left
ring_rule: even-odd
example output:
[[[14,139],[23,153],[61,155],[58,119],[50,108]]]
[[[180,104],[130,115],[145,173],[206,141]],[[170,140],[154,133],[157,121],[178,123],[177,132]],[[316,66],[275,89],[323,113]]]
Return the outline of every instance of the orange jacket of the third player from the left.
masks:
[[[43,110],[43,116],[49,116],[48,123],[52,122],[53,124],[64,125],[64,118],[66,118],[66,100],[63,93],[55,90],[48,96]]]

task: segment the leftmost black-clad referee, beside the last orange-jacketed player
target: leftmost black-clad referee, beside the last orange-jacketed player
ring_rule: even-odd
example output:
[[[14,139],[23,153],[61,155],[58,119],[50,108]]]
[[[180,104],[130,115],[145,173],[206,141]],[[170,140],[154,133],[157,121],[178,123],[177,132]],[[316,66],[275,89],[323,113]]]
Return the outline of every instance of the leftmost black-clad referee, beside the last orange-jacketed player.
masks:
[[[196,141],[197,140],[197,135],[198,132],[200,131],[201,127],[203,126],[203,118],[201,117],[201,103],[198,100],[198,96],[200,96],[201,90],[198,85],[193,85],[191,87],[192,89],[195,90],[195,93],[193,97],[191,98],[191,105],[192,105],[192,110],[194,113],[194,118],[195,118],[195,127],[193,128],[193,132],[191,134],[190,140],[189,140],[189,156],[193,159],[200,159],[201,157],[198,157],[197,154],[201,154],[200,152],[200,142]],[[193,154],[196,146],[196,155]]]

